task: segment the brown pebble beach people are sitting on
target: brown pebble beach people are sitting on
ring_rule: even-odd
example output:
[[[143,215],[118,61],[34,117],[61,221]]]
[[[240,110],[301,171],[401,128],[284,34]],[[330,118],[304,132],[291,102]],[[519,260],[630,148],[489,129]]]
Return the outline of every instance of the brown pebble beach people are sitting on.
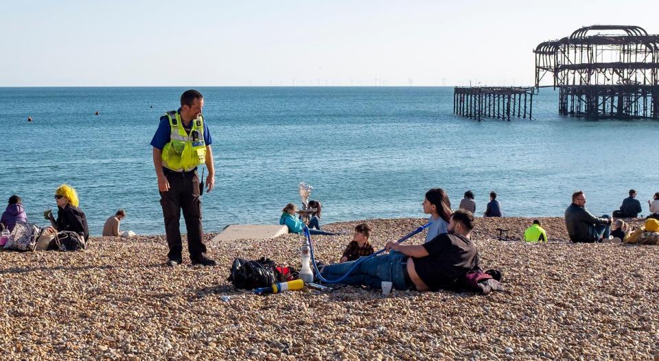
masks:
[[[501,270],[506,289],[488,296],[356,287],[257,296],[231,286],[235,257],[299,268],[301,238],[290,234],[209,243],[216,267],[190,266],[185,246],[183,266],[163,266],[164,235],[0,252],[0,359],[659,360],[659,248],[572,244],[562,218],[539,219],[544,244],[496,240],[498,228],[522,237],[533,218],[477,218],[481,266]],[[377,250],[425,220],[367,222]],[[337,261],[350,240],[314,237],[316,259]]]

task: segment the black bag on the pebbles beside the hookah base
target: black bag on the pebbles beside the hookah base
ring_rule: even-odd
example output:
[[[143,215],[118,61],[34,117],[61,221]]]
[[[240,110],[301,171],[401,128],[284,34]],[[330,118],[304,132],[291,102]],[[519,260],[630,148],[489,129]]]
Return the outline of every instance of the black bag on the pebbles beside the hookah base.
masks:
[[[275,262],[266,257],[261,257],[256,261],[236,258],[231,265],[231,275],[227,281],[233,283],[235,288],[243,290],[268,287],[279,281],[279,272],[276,267]]]

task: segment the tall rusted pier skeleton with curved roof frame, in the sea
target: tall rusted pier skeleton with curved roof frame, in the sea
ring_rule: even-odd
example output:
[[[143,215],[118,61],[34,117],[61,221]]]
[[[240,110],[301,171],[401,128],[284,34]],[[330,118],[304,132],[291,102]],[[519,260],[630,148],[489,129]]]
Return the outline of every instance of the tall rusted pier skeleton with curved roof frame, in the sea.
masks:
[[[559,88],[560,114],[659,119],[659,35],[634,25],[593,25],[533,52],[535,86],[553,80],[547,85]]]

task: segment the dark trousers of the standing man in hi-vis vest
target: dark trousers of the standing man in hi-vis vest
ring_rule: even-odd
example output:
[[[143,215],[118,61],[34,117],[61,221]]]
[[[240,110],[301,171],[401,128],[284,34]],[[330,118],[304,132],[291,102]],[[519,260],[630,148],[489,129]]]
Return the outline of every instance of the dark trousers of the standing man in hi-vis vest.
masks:
[[[165,218],[165,234],[170,252],[169,259],[181,260],[183,245],[181,244],[181,210],[187,229],[187,250],[190,259],[196,259],[206,253],[202,242],[203,228],[201,226],[201,200],[199,198],[199,175],[192,172],[173,172],[165,169],[165,177],[170,183],[169,191],[160,192],[160,205]]]

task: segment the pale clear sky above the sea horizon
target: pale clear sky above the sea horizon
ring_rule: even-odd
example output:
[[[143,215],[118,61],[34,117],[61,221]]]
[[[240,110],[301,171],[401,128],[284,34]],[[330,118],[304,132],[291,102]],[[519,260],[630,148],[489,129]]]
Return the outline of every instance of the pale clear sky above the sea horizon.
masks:
[[[0,86],[531,85],[593,24],[659,34],[659,1],[0,0]]]

